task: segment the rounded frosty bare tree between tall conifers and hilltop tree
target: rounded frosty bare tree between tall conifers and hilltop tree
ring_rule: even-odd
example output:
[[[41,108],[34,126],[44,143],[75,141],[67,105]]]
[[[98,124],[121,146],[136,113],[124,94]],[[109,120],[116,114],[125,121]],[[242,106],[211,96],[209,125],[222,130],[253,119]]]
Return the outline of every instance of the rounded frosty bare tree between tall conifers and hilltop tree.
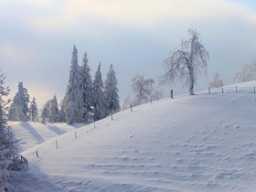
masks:
[[[155,80],[153,79],[144,79],[144,75],[136,75],[133,78],[133,92],[136,96],[136,101],[139,102],[139,104],[142,101],[149,101],[151,98],[151,93],[154,90],[153,84],[155,83]]]

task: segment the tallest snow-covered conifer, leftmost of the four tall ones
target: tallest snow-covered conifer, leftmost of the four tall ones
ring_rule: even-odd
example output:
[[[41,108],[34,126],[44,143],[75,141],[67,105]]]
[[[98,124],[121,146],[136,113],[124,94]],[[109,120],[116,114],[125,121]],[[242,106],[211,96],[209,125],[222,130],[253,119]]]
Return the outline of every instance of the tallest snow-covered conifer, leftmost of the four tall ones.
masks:
[[[84,107],[80,87],[80,66],[78,64],[78,50],[74,46],[69,71],[69,85],[63,100],[63,107],[67,123],[84,122]]]

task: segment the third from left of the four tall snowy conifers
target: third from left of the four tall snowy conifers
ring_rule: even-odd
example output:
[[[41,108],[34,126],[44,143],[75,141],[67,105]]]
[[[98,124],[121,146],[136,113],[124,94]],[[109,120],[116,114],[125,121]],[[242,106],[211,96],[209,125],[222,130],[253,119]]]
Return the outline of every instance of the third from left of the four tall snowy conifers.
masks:
[[[103,81],[101,79],[101,63],[95,73],[93,80],[93,94],[94,94],[94,121],[101,120],[106,116],[105,101],[103,95]]]

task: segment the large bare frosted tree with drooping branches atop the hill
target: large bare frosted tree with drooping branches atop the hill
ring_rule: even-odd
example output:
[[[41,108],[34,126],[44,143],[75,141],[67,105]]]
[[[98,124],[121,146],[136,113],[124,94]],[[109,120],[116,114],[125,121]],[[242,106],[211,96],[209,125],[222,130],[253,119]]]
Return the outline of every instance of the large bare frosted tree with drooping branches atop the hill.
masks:
[[[163,83],[174,83],[182,80],[189,87],[189,94],[194,95],[197,76],[207,71],[208,51],[200,43],[196,29],[189,29],[189,39],[181,40],[181,49],[170,53],[165,59],[165,74],[161,78]]]

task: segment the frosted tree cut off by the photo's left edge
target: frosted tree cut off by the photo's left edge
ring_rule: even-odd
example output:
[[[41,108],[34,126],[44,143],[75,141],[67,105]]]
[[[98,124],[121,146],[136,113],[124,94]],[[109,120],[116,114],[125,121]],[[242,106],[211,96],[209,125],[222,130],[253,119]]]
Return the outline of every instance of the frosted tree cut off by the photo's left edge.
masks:
[[[5,99],[9,88],[5,87],[5,76],[0,75],[0,191],[14,191],[9,183],[21,168],[18,163],[16,141],[10,127],[7,126],[7,111],[9,101]]]

